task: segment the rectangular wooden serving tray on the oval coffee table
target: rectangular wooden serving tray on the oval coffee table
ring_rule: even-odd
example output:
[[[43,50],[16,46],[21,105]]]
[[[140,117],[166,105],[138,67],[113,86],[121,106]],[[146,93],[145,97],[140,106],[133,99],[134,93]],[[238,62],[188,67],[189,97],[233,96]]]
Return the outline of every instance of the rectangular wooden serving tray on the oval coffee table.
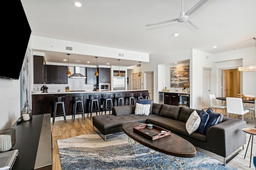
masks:
[[[162,127],[153,125],[152,129],[148,128],[146,124],[139,125],[133,128],[133,131],[151,139],[152,141],[171,135],[171,131],[168,131]],[[165,132],[161,132],[165,131]]]

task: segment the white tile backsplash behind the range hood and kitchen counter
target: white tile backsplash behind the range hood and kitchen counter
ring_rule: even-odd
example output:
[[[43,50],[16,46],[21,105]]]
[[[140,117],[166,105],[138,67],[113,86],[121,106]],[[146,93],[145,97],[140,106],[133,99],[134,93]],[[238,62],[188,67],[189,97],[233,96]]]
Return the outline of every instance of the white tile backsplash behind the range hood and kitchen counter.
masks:
[[[69,67],[71,75],[75,73],[75,67]],[[85,67],[80,67],[80,73],[86,76]],[[38,91],[45,84],[34,84],[33,91]],[[93,84],[86,84],[86,78],[69,78],[68,84],[47,84],[48,92],[59,92],[59,90],[65,90],[65,87],[68,86],[70,91],[75,90],[85,90],[92,91]]]

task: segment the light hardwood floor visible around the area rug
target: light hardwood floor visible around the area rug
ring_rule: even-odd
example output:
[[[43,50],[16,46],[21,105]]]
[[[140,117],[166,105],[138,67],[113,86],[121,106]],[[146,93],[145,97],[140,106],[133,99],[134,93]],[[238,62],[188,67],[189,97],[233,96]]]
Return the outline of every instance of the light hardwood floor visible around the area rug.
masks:
[[[214,109],[215,111],[215,109]],[[222,114],[222,109],[217,109],[217,113]],[[96,115],[95,113],[92,114],[92,116]],[[85,114],[87,116],[87,114]],[[238,118],[239,119],[239,118]],[[245,119],[247,122],[247,118]],[[247,128],[256,128],[256,119],[252,120],[252,117],[249,121],[249,123],[246,124]],[[60,164],[60,156],[58,152],[58,145],[57,140],[58,139],[66,139],[69,137],[75,137],[78,135],[84,135],[88,133],[93,133],[93,126],[92,126],[92,119],[90,117],[84,118],[76,118],[75,121],[72,121],[72,119],[68,119],[67,123],[65,121],[55,121],[54,125],[51,124],[52,128],[52,170],[62,170],[61,164]],[[95,129],[97,130],[97,129]],[[248,151],[246,154],[246,158],[244,159],[244,154],[246,152],[246,147],[249,141],[250,135],[246,133],[246,144],[244,145],[244,150],[240,152],[235,158],[233,158],[228,165],[233,166],[237,168],[238,170],[255,170],[253,162],[251,163],[251,168],[249,168],[249,162],[250,162],[250,150],[251,150],[251,141],[250,145],[248,147]],[[256,137],[254,136],[254,142],[253,142],[253,149],[252,149],[252,157],[255,156],[256,152]],[[252,140],[252,139],[251,139]],[[212,158],[215,158],[217,160],[220,160],[223,162],[223,158],[212,154],[206,150],[196,148],[199,152],[202,152],[208,156],[211,156]],[[242,147],[241,147],[242,149]]]

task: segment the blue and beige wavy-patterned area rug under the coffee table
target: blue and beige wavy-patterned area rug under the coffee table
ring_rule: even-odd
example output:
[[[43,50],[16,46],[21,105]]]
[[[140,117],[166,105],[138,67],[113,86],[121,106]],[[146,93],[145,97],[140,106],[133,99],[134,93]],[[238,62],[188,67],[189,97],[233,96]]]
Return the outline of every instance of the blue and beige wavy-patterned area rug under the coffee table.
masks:
[[[62,170],[147,170],[148,148],[136,144],[136,155],[127,148],[128,136],[124,132],[115,133],[104,141],[97,133],[90,133],[59,139],[57,141]],[[150,155],[151,156],[151,155]],[[155,157],[156,161],[160,158]],[[222,162],[196,152],[193,158],[184,158],[187,170],[236,170],[232,166],[223,166]],[[162,158],[163,165],[169,161]],[[150,159],[149,165],[152,165]],[[178,169],[171,162],[170,169]],[[156,169],[161,169],[156,166]]]

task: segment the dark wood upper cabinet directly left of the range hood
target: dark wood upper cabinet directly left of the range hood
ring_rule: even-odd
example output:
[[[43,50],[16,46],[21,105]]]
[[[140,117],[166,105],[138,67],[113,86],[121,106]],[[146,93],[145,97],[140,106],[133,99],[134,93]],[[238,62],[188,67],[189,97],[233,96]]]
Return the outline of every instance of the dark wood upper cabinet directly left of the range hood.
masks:
[[[47,65],[47,84],[68,84],[68,66]]]

